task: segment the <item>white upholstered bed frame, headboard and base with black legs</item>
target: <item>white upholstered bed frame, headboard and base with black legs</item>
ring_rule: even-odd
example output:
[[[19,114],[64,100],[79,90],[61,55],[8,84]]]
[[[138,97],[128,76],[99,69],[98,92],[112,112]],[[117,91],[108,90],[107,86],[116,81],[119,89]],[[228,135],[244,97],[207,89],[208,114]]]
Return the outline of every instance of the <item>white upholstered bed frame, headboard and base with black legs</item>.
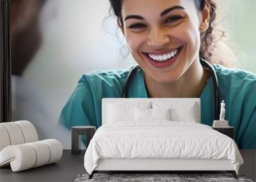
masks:
[[[200,98],[103,98],[102,99],[102,125],[106,123],[106,104],[107,102],[195,102],[198,106],[198,116],[200,116]],[[200,123],[198,117],[197,123]],[[99,160],[97,167],[90,174],[97,172],[115,173],[173,173],[173,172],[195,172],[195,173],[220,173],[226,171],[237,179],[236,171],[230,160],[211,160],[211,159],[159,159],[159,158],[109,158]]]

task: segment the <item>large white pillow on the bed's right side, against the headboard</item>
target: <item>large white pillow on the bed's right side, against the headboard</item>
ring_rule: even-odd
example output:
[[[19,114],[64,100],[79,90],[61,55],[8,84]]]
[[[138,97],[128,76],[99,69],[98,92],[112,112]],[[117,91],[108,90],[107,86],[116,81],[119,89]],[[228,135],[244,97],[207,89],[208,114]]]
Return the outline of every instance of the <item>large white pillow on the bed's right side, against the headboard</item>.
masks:
[[[166,109],[171,110],[171,120],[172,121],[186,121],[186,122],[196,122],[199,121],[199,110],[195,102],[163,102],[157,103],[152,102],[152,107],[154,109]]]

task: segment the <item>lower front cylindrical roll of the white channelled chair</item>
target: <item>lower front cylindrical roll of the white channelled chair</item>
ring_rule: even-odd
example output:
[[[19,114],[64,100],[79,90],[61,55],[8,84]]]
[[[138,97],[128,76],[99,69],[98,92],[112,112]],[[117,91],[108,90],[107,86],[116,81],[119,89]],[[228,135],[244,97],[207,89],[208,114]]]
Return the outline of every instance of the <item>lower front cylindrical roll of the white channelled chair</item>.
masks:
[[[11,165],[13,172],[56,162],[63,154],[61,143],[55,139],[6,146],[0,152],[0,167]]]

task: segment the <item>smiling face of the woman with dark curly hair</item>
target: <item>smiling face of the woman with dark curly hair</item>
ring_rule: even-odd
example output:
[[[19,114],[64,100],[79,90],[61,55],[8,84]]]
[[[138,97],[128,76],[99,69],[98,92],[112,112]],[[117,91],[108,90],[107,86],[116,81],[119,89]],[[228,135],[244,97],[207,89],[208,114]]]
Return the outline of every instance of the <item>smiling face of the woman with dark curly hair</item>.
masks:
[[[124,0],[122,20],[131,54],[151,79],[175,82],[198,60],[204,20],[194,0]]]

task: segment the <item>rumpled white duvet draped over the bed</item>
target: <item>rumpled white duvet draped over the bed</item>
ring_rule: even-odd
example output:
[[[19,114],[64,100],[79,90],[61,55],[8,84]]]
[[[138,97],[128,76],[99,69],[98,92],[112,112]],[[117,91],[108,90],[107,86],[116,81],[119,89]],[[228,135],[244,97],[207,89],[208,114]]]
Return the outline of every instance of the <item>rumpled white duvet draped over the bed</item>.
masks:
[[[243,158],[236,142],[210,126],[192,122],[116,122],[100,126],[84,155],[89,174],[99,159],[229,159],[238,174]]]

